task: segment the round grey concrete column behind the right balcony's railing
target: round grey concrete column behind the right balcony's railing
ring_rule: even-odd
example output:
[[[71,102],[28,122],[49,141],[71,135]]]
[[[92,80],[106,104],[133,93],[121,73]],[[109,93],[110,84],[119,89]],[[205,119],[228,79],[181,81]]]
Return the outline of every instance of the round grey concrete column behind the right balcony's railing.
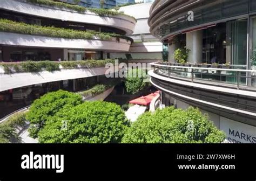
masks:
[[[186,48],[191,50],[188,54],[188,62],[192,64],[202,62],[203,30],[186,34]]]

